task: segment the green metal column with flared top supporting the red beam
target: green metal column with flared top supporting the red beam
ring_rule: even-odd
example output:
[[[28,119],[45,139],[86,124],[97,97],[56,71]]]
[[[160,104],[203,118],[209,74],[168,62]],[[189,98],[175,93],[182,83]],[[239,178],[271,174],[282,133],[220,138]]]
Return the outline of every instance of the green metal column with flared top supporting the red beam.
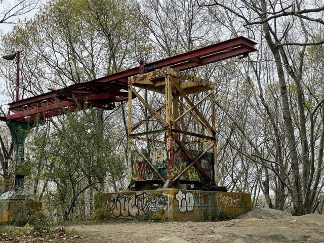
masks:
[[[24,190],[25,175],[23,170],[25,164],[25,139],[30,132],[32,125],[29,123],[22,123],[20,121],[9,120],[7,125],[10,129],[12,143],[13,143],[13,166],[15,167],[15,190]]]

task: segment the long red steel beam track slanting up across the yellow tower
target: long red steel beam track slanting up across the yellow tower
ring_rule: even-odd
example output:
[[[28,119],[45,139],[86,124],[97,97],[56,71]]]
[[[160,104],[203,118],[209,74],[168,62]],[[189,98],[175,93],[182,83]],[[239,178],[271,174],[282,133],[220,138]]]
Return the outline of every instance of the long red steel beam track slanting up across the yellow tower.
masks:
[[[170,66],[177,70],[186,70],[218,62],[231,57],[247,56],[256,51],[257,43],[245,37],[237,37],[183,53],[174,57],[145,64],[146,72]],[[143,66],[141,66],[143,69]],[[131,68],[122,72],[100,77],[90,82],[71,85],[67,88],[48,92],[9,104],[9,112],[1,120],[32,121],[39,118],[48,118],[61,114],[60,107],[69,107],[74,111],[77,106],[74,101],[88,104],[93,107],[106,108],[107,104],[128,99],[127,78],[142,72],[140,67]]]

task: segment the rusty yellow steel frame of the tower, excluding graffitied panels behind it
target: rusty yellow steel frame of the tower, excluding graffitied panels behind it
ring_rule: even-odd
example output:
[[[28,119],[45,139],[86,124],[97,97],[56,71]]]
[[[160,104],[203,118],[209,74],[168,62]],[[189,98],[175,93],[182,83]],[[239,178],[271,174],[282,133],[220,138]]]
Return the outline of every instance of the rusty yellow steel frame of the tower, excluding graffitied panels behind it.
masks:
[[[151,105],[149,105],[144,98],[135,90],[135,87],[144,88],[148,91],[158,92],[164,95],[165,104],[160,106],[158,109],[154,109]],[[192,92],[192,87],[194,87],[197,92]],[[207,92],[207,94],[197,101],[195,104],[188,97],[188,94],[199,93],[200,91]],[[214,96],[215,96],[215,88],[214,84],[208,82],[207,80],[194,77],[188,74],[184,74],[183,72],[179,72],[172,68],[163,68],[154,70],[152,72],[144,73],[138,76],[129,78],[129,93],[135,95],[138,98],[140,104],[145,107],[150,114],[146,116],[144,119],[138,121],[135,125],[132,124],[132,100],[129,100],[129,110],[128,110],[128,138],[129,144],[132,149],[135,149],[140,156],[143,157],[145,163],[149,165],[149,167],[154,170],[154,172],[158,175],[161,182],[164,183],[164,187],[169,187],[172,183],[175,183],[177,180],[181,178],[181,176],[187,172],[192,166],[195,167],[201,175],[203,175],[208,181],[217,185],[217,172],[213,172],[213,179],[210,175],[208,175],[203,168],[199,165],[198,161],[201,159],[207,152],[213,152],[213,169],[217,169],[217,156],[216,156],[216,132],[215,132],[215,106],[214,106]],[[130,95],[130,99],[132,97]],[[182,97],[187,104],[179,100],[179,97]],[[211,109],[211,121],[201,113],[198,106],[210,100],[210,109]],[[186,111],[179,115],[179,105],[181,105]],[[165,110],[165,118],[163,118],[159,113]],[[206,131],[208,131],[209,135],[198,134],[189,131],[180,130],[178,123],[183,119],[187,114],[191,114],[199,124],[205,127]],[[149,120],[155,118],[162,129],[154,130],[154,131],[145,131],[138,132],[136,130],[140,128],[142,125],[146,124]],[[152,121],[152,120],[151,120]],[[154,140],[143,138],[142,136],[147,135],[165,135],[165,141]],[[188,135],[199,138],[199,140],[195,140],[192,142],[182,142],[179,139],[179,135]],[[149,162],[149,159],[145,157],[145,155],[141,152],[141,150],[136,146],[135,140],[144,141],[144,142],[154,142],[158,144],[165,144],[166,150],[168,151],[168,169],[167,170],[167,178],[164,179],[160,173],[154,168]],[[188,144],[194,143],[210,143],[205,146],[205,150],[202,151],[198,157],[194,157],[189,149],[186,147]],[[176,177],[173,177],[173,167],[174,167],[174,157],[173,157],[173,147],[177,146],[181,148],[184,154],[188,158],[187,166],[178,174]],[[129,185],[132,184],[131,173],[132,173],[132,165],[131,165],[131,149],[128,150],[128,168],[129,168],[129,183],[127,184],[127,189]]]

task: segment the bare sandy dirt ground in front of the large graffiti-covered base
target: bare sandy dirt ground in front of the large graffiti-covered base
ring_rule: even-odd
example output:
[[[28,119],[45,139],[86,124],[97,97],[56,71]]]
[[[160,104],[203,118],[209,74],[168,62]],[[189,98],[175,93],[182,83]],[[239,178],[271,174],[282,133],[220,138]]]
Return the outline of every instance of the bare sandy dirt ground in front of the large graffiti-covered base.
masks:
[[[262,214],[262,212],[261,212]],[[264,214],[262,214],[264,215]],[[138,222],[105,221],[94,225],[75,225],[84,236],[79,242],[323,242],[324,216],[282,216],[260,219],[247,215],[222,222]],[[283,218],[285,217],[285,218]],[[271,218],[271,217],[267,217]],[[278,217],[272,217],[278,218]]]

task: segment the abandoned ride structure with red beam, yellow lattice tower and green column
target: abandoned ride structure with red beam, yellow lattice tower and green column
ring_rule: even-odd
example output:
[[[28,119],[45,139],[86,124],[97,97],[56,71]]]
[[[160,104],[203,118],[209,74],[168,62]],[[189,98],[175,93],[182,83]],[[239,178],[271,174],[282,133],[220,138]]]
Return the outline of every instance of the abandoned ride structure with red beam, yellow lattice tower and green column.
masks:
[[[75,101],[79,104],[87,101],[87,107],[113,109],[115,102],[128,100],[129,161],[128,184],[125,189],[132,187],[135,190],[143,189],[141,187],[152,187],[156,183],[164,188],[176,187],[178,184],[188,181],[191,184],[198,185],[197,188],[199,186],[204,188],[204,185],[209,185],[208,189],[217,186],[214,84],[208,80],[191,76],[184,70],[232,57],[246,57],[249,53],[256,51],[255,45],[255,42],[240,36],[164,60],[148,64],[142,61],[139,67],[12,102],[9,104],[8,114],[0,117],[0,119],[7,122],[11,131],[14,145],[13,162],[17,165],[24,163],[24,140],[37,117],[46,119],[60,115],[62,114],[62,107],[74,111],[78,107]],[[165,105],[159,109],[154,109],[141,97],[139,89],[163,94]],[[194,104],[189,95],[200,92],[206,92],[205,97]],[[141,105],[150,113],[149,117],[145,117],[135,125],[132,124],[132,99],[134,98],[138,98]],[[211,122],[199,110],[199,104],[207,100],[209,100],[211,107],[209,113]],[[185,110],[182,114],[179,114],[180,105]],[[163,114],[161,114],[162,110],[164,110]],[[208,135],[180,130],[179,122],[187,114],[193,116],[195,121],[205,128]],[[141,125],[151,118],[154,118],[160,124],[160,129],[146,133],[136,132]],[[164,134],[164,138],[159,137],[155,140],[148,138],[151,134]],[[197,140],[183,142],[181,136],[184,135],[195,137]],[[151,150],[140,149],[136,145],[138,141],[163,145],[158,148],[159,152],[157,152],[160,158],[163,157],[163,163],[154,164],[153,158],[150,157],[154,153],[154,148],[152,147]],[[203,151],[197,153],[186,147],[193,143],[210,144],[205,146]],[[211,153],[208,152],[210,150]],[[175,173],[174,169],[180,158],[186,160],[186,163],[182,165],[182,170],[177,170],[177,173]],[[207,164],[205,163],[206,160],[209,161]],[[142,165],[139,163],[142,163]],[[144,175],[144,171],[135,175],[135,171],[139,170],[139,167],[140,169],[145,168],[148,174]],[[197,178],[195,180],[190,179],[189,172],[198,175]],[[19,182],[15,183],[15,191],[24,190],[24,175],[16,173],[16,179]],[[2,199],[10,199],[9,194],[7,198],[2,196]]]

